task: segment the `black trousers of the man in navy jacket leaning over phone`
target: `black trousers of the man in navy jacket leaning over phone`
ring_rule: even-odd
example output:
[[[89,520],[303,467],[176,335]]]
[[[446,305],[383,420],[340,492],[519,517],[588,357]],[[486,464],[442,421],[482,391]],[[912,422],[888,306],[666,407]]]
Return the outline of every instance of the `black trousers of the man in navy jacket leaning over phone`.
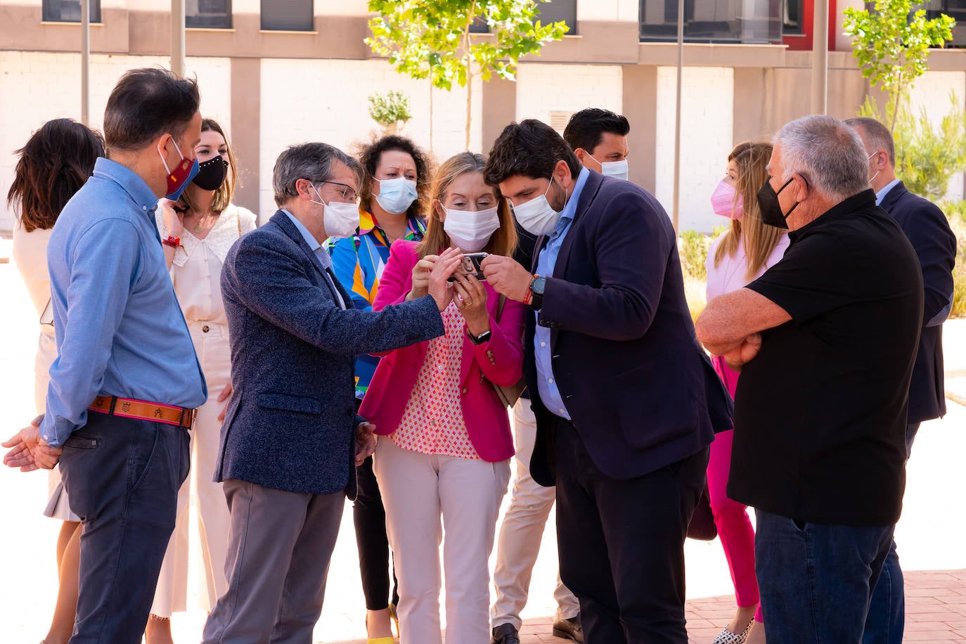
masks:
[[[568,421],[557,423],[560,577],[581,602],[586,644],[686,644],[684,539],[707,448],[626,481],[603,474]]]

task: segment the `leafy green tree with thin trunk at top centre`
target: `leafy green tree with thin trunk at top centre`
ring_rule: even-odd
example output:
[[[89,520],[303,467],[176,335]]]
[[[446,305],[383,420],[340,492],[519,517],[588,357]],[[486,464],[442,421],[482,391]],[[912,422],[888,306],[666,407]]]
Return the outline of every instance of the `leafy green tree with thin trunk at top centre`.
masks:
[[[547,2],[548,0],[539,0]],[[514,79],[521,56],[538,53],[547,42],[567,33],[567,25],[536,20],[534,0],[369,0],[372,50],[387,56],[397,71],[429,78],[433,86],[467,88],[466,145],[472,119],[472,79],[488,81],[494,73]],[[482,24],[486,35],[469,28]]]

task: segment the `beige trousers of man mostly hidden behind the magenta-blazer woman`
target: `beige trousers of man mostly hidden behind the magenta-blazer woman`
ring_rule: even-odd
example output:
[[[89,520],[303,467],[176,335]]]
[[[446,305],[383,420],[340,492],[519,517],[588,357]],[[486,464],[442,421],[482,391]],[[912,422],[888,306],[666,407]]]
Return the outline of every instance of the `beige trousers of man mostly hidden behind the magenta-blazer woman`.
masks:
[[[490,615],[493,626],[512,624],[520,630],[523,621],[520,612],[526,605],[530,577],[537,555],[544,526],[554,507],[555,488],[544,488],[530,476],[530,457],[536,441],[537,423],[530,402],[521,398],[513,407],[513,445],[517,475],[513,479],[510,506],[503,516],[497,542],[497,568],[493,583],[497,589],[497,601]],[[581,605],[556,574],[554,600],[557,618],[569,619],[581,612]]]

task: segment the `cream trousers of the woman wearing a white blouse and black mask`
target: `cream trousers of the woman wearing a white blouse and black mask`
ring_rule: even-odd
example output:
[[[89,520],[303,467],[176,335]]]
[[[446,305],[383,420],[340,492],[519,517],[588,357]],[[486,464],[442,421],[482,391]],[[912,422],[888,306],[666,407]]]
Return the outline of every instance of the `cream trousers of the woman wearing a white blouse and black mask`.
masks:
[[[203,329],[208,327],[208,331]],[[228,529],[231,518],[228,503],[220,483],[214,483],[214,469],[221,441],[221,422],[218,414],[225,401],[217,401],[218,394],[231,379],[231,350],[228,345],[228,326],[212,322],[188,322],[194,350],[198,353],[201,369],[208,384],[208,401],[198,407],[191,431],[191,475],[178,492],[178,518],[175,531],[168,542],[157,578],[155,602],[151,612],[158,617],[187,609],[188,565],[188,500],[191,480],[195,482],[198,506],[198,533],[201,537],[198,602],[211,610],[214,602],[228,590],[225,578],[225,555],[228,549]]]

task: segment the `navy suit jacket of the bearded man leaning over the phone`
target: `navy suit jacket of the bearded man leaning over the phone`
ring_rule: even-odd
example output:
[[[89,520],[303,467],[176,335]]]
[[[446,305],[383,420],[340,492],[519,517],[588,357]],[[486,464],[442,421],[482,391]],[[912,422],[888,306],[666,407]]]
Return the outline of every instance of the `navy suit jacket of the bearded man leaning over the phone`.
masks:
[[[732,428],[731,398],[695,337],[674,229],[653,195],[591,171],[546,277],[538,322],[551,328],[554,379],[605,475],[642,476]],[[530,470],[551,486],[555,421],[536,386],[534,324],[529,316],[524,370],[537,418]]]

